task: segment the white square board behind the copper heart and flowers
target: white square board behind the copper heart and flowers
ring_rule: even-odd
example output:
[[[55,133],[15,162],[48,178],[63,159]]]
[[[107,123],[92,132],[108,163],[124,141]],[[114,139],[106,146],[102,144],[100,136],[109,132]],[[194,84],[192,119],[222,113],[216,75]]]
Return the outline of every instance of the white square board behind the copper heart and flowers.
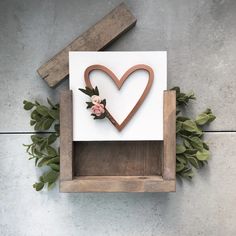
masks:
[[[85,88],[84,72],[92,65],[103,65],[118,79],[131,67],[145,64],[152,68],[154,80],[143,104],[128,124],[118,131],[107,119],[94,120],[91,109],[86,109],[89,96],[79,91]],[[166,52],[70,52],[70,89],[73,91],[73,140],[163,140],[163,91],[167,89]],[[106,99],[106,108],[121,123],[142,95],[148,73],[138,70],[132,73],[120,90],[104,72],[90,74],[92,86],[98,87],[100,97]]]

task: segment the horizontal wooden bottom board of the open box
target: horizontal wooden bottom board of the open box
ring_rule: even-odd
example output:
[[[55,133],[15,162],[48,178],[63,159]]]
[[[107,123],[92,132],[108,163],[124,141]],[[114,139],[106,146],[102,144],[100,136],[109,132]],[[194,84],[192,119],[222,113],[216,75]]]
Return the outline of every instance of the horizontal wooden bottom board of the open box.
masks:
[[[173,192],[175,180],[160,176],[81,176],[60,183],[61,192]]]

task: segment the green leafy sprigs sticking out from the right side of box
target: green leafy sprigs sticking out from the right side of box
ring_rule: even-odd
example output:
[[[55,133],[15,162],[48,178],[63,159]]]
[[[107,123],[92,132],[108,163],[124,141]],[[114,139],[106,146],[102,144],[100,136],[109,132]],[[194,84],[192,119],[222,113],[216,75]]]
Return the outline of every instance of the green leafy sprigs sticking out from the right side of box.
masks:
[[[203,140],[203,126],[215,120],[211,109],[206,109],[195,119],[182,115],[182,110],[190,100],[196,99],[194,93],[182,93],[179,87],[176,91],[176,174],[191,180],[193,168],[200,169],[210,158],[209,146]]]

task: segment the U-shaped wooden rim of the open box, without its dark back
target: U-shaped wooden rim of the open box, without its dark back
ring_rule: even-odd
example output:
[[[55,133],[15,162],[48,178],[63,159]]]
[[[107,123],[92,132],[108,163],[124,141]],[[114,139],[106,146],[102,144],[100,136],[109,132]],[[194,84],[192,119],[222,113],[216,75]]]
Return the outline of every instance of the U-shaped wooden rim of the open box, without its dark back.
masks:
[[[176,189],[175,91],[164,91],[163,118],[164,141],[158,143],[163,146],[163,155],[159,163],[162,165],[160,174],[146,175],[144,172],[138,176],[75,176],[72,91],[63,91],[60,95],[60,192],[174,192]]]

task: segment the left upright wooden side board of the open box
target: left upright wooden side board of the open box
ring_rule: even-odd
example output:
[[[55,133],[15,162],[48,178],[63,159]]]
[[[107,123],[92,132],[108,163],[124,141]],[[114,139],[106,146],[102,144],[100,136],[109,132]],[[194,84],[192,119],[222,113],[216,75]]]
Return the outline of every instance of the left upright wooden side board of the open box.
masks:
[[[72,91],[60,94],[60,180],[73,178]]]

